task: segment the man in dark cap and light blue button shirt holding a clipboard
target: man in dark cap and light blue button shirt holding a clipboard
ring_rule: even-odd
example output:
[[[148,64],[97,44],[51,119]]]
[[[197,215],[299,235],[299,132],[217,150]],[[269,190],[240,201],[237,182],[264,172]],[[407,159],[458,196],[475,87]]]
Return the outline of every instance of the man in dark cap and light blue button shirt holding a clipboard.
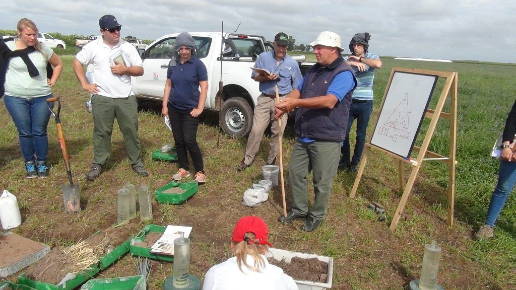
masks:
[[[265,129],[271,124],[270,148],[269,156],[267,157],[267,165],[276,164],[276,155],[278,155],[279,148],[279,128],[278,120],[271,121],[275,114],[274,105],[276,104],[275,85],[278,85],[278,94],[280,100],[286,94],[291,92],[298,86],[301,81],[301,71],[299,65],[292,57],[287,55],[288,36],[282,32],[274,38],[274,51],[261,53],[256,63],[255,68],[264,69],[270,74],[264,72],[253,71],[251,77],[260,82],[260,91],[262,94],[258,97],[258,103],[254,108],[253,127],[247,139],[246,152],[244,159],[241,160],[237,166],[237,170],[241,171],[249,167],[254,160],[254,156],[260,149],[260,142],[262,141]],[[281,117],[281,133],[285,131],[287,124],[287,115]]]

